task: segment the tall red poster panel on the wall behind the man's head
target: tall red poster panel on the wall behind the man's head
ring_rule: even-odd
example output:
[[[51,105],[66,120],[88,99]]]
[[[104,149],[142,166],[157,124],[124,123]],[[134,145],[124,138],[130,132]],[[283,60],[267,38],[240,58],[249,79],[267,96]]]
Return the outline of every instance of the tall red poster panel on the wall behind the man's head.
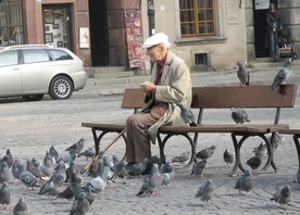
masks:
[[[142,67],[145,63],[140,18],[139,10],[125,11],[129,67]]]

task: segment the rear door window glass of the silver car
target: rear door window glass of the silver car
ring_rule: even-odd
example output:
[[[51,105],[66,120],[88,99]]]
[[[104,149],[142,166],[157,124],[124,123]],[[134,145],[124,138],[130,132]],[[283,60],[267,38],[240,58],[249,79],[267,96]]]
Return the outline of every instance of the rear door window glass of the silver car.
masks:
[[[24,63],[38,63],[49,61],[49,54],[43,49],[24,49]]]

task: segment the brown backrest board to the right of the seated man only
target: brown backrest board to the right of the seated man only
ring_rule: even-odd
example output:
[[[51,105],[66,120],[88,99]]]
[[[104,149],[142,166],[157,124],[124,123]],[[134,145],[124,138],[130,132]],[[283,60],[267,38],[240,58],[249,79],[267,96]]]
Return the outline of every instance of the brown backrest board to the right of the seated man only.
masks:
[[[296,92],[296,85],[282,85],[273,92],[270,86],[193,87],[191,108],[292,108]]]

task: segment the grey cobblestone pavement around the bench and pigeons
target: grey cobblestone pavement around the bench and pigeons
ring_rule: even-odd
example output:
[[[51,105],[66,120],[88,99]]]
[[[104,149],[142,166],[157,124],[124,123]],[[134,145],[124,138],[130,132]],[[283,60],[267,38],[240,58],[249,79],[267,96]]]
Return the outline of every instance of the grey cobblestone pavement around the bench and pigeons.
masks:
[[[274,72],[275,73],[275,72]],[[273,74],[274,74],[273,73]],[[253,81],[260,81],[259,74],[253,75]],[[270,81],[273,74],[261,78]],[[265,75],[262,73],[261,76]],[[254,78],[258,76],[258,78]],[[93,146],[91,131],[80,126],[83,122],[116,123],[124,122],[132,111],[121,110],[122,89],[135,87],[147,77],[128,78],[127,84],[112,84],[103,86],[88,85],[86,89],[74,93],[64,101],[53,101],[46,97],[39,102],[22,102],[9,100],[0,103],[0,156],[7,149],[11,149],[14,156],[18,156],[23,163],[26,159],[37,157],[42,161],[50,146],[55,146],[60,153],[80,138],[85,138],[85,148]],[[218,76],[199,75],[192,79],[193,85],[207,86],[233,83],[235,74],[218,74]],[[268,78],[268,79],[267,79]],[[90,83],[95,81],[89,79]],[[196,83],[198,81],[198,83]],[[298,79],[295,78],[295,83]],[[111,94],[105,97],[104,94]],[[287,123],[290,127],[300,128],[299,113],[300,101],[297,94],[296,106],[282,111],[280,123]],[[275,110],[249,110],[251,123],[273,123]],[[217,123],[230,121],[228,110],[208,110],[204,121]],[[116,134],[108,135],[101,142],[108,144]],[[245,142],[241,149],[242,164],[253,155],[252,150],[261,142],[259,138],[251,138]],[[190,176],[191,169],[180,168],[176,165],[176,178],[170,187],[159,190],[157,197],[137,197],[141,187],[142,177],[125,179],[126,184],[112,184],[111,188],[104,189],[90,206],[88,214],[299,214],[300,210],[300,185],[293,184],[297,169],[298,156],[290,136],[275,151],[275,162],[278,166],[277,173],[270,167],[266,172],[254,174],[255,187],[250,197],[240,195],[234,189],[238,179],[229,177],[228,167],[223,161],[225,149],[233,149],[229,134],[201,134],[197,151],[216,146],[215,153],[209,159],[203,178],[197,179]],[[189,143],[180,137],[171,138],[165,152],[167,160],[190,149]],[[159,154],[158,146],[152,146],[153,154]],[[118,157],[124,155],[124,142],[122,139],[108,150],[108,154]],[[76,159],[76,164],[82,169],[88,162]],[[246,166],[246,165],[245,165]],[[242,173],[237,172],[238,175]],[[88,182],[90,177],[83,175],[84,181]],[[215,193],[211,204],[205,205],[195,197],[198,188],[208,179],[212,180]],[[292,190],[292,201],[287,210],[278,208],[278,203],[270,200],[276,188],[289,185]],[[11,175],[9,187],[12,193],[11,205],[8,211],[0,210],[0,214],[11,214],[13,206],[20,197],[25,199],[30,214],[68,214],[72,201],[55,199],[47,195],[38,195],[39,189],[26,190],[21,182],[14,184]]]

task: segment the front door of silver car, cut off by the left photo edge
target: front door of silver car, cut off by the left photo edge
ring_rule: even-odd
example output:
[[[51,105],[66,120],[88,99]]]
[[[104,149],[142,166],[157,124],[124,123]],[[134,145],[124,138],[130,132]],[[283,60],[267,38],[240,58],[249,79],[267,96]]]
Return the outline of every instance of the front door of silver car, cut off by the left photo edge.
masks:
[[[0,53],[0,97],[18,96],[22,92],[22,71],[18,65],[18,51]]]

